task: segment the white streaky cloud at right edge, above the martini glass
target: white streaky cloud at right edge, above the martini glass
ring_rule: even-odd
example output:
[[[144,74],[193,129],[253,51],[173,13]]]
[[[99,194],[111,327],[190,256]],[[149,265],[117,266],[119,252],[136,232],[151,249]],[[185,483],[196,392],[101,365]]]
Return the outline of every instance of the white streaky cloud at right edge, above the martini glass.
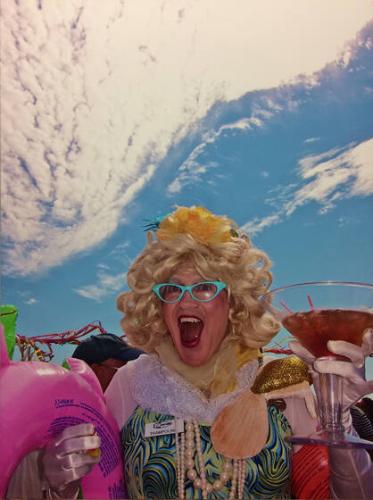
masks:
[[[241,227],[243,231],[255,235],[279,224],[306,203],[318,203],[319,213],[324,214],[342,199],[373,195],[373,138],[304,157],[298,166],[300,185],[274,190],[277,197],[267,203],[276,207],[276,213],[248,221]],[[340,226],[351,222],[347,218],[338,220]]]

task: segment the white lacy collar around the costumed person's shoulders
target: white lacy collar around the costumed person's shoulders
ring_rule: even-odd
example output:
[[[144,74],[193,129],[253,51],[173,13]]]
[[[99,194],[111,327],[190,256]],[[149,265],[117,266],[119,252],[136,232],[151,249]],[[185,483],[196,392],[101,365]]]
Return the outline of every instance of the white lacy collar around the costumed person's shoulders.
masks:
[[[252,386],[257,370],[258,361],[250,361],[237,373],[236,390],[207,399],[183,377],[163,366],[157,355],[147,355],[132,365],[129,383],[132,397],[144,409],[212,424],[228,403]]]

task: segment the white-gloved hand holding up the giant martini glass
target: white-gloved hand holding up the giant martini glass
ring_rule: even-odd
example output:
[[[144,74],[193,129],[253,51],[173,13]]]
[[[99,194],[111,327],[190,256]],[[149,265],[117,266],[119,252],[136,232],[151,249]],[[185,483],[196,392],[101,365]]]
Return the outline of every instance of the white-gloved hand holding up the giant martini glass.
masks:
[[[290,349],[310,367],[310,372],[317,391],[319,373],[334,373],[344,380],[342,409],[343,420],[349,417],[347,410],[366,394],[373,391],[373,380],[365,380],[365,357],[373,352],[373,329],[367,329],[360,346],[342,340],[329,340],[328,350],[334,354],[345,356],[350,361],[333,358],[316,359],[298,342],[290,342]],[[347,415],[348,413],[348,415]],[[350,420],[350,418],[348,418]]]

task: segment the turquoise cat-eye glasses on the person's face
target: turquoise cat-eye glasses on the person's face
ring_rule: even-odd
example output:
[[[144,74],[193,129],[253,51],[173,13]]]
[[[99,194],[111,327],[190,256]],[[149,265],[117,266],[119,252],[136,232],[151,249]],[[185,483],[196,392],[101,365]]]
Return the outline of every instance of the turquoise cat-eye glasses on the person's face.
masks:
[[[180,302],[184,297],[185,292],[189,292],[193,300],[199,302],[210,302],[213,300],[227,285],[222,281],[201,281],[194,285],[177,285],[176,283],[158,283],[154,285],[152,290],[156,296],[166,304],[175,304]]]

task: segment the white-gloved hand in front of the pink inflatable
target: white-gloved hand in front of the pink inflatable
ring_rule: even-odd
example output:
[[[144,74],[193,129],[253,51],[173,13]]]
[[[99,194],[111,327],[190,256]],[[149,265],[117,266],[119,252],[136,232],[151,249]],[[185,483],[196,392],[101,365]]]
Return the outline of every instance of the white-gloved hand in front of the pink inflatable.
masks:
[[[41,459],[43,475],[51,489],[64,497],[74,496],[79,489],[79,479],[100,461],[100,453],[88,453],[100,444],[92,424],[66,427],[47,445]]]

